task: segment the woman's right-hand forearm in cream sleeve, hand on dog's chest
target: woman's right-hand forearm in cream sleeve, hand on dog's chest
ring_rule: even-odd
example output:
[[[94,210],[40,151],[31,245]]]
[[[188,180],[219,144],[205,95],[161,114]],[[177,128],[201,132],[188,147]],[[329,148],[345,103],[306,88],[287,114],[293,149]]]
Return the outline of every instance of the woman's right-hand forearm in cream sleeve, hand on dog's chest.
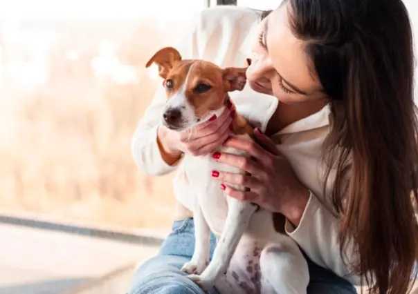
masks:
[[[340,219],[331,213],[297,178],[289,161],[269,137],[260,130],[255,141],[231,138],[225,146],[246,151],[251,157],[239,158],[222,153],[216,158],[224,164],[243,168],[250,175],[219,172],[217,179],[226,185],[226,193],[240,200],[253,202],[287,218],[285,230],[316,264],[329,268],[353,284],[360,278],[350,275],[349,264],[358,256],[345,248],[340,251]],[[248,191],[235,190],[229,185],[244,185]],[[347,261],[347,265],[344,261]]]

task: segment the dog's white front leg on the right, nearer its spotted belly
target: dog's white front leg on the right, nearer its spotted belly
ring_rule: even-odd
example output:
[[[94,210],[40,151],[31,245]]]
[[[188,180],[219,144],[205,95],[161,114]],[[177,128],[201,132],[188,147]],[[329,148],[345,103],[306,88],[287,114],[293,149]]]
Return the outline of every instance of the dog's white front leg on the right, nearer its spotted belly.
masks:
[[[248,202],[241,202],[232,197],[227,199],[228,215],[212,261],[201,275],[188,276],[203,289],[214,286],[217,279],[226,273],[239,240],[250,222],[251,215],[257,209],[257,206]]]

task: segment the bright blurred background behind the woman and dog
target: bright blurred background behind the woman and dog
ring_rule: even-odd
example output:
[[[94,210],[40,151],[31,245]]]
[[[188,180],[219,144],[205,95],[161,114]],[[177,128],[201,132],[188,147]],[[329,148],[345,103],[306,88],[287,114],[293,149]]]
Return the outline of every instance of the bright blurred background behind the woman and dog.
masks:
[[[418,3],[405,2],[417,28]],[[171,176],[147,177],[131,159],[131,135],[161,82],[145,63],[199,11],[228,3],[269,9],[280,0],[0,0],[0,219],[167,231]],[[67,293],[156,251],[15,224],[0,233],[0,294]]]

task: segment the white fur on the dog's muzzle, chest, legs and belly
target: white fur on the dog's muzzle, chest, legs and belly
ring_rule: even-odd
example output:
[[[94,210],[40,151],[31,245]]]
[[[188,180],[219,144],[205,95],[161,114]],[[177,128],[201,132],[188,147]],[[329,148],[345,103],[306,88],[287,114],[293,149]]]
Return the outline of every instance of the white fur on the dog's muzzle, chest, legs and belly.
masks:
[[[185,84],[187,81],[188,77]],[[224,111],[222,107],[199,121],[185,97],[184,88],[167,100],[165,105],[165,110],[181,110],[182,126],[178,130],[201,124],[214,114],[219,117]],[[163,119],[161,124],[165,124]],[[235,136],[251,139],[248,135]],[[218,151],[246,155],[233,148],[221,147]],[[185,155],[183,160],[190,193],[195,196],[195,247],[192,259],[183,265],[182,271],[189,273],[188,277],[201,288],[216,285],[222,294],[307,293],[309,271],[296,242],[275,231],[271,213],[263,209],[255,212],[255,205],[228,197],[221,190],[219,181],[210,175],[212,170],[229,173],[244,171],[221,164],[212,159],[211,155]],[[242,189],[239,186],[233,188]],[[218,242],[212,261],[209,262],[211,231]]]

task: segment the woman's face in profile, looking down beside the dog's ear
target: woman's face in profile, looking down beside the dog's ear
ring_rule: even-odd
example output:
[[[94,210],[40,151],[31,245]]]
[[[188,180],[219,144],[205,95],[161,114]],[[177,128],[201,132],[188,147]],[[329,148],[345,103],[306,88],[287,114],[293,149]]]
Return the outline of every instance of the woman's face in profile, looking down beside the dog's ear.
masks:
[[[304,48],[304,41],[293,36],[287,6],[271,12],[260,23],[246,72],[251,88],[286,104],[324,99],[326,95],[310,70]]]

